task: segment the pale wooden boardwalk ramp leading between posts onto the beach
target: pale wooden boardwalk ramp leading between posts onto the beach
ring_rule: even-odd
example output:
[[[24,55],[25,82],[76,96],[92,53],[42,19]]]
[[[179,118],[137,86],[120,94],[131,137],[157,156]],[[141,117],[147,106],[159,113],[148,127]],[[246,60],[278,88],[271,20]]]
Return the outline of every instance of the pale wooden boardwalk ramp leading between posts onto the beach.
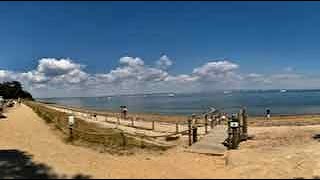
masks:
[[[223,156],[228,150],[222,143],[227,139],[227,126],[218,125],[197,143],[186,149],[187,152]]]

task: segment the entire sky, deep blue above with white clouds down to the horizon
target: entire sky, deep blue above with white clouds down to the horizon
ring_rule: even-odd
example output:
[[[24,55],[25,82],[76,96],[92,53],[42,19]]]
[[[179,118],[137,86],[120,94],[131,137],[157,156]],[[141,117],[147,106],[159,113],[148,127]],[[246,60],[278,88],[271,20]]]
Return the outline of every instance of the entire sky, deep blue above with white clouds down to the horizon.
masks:
[[[35,97],[320,88],[320,2],[0,2]]]

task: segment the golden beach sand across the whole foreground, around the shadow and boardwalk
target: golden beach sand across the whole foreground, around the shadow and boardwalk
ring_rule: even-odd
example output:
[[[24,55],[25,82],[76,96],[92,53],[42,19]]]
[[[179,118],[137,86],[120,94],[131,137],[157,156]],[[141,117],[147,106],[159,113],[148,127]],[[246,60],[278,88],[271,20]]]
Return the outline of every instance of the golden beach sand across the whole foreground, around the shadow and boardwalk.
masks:
[[[162,153],[141,152],[131,156],[99,153],[64,143],[25,105],[9,109],[6,116],[7,119],[0,120],[0,161],[6,150],[26,152],[32,155],[35,164],[45,164],[58,177],[81,174],[91,178],[312,178],[320,175],[320,142],[313,138],[320,133],[320,125],[252,126],[249,133],[255,138],[241,143],[239,150],[229,151],[226,166],[223,157],[187,153],[180,146]],[[3,163],[0,168],[0,176],[10,177],[4,173]]]

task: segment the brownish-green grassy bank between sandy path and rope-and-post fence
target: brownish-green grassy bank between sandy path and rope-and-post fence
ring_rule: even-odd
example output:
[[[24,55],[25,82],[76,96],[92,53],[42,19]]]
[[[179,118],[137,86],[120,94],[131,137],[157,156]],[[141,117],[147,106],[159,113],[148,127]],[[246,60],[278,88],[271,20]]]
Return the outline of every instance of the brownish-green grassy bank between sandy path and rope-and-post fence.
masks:
[[[167,147],[157,146],[150,141],[126,134],[118,129],[101,127],[96,123],[78,118],[75,119],[71,136],[67,113],[47,108],[37,102],[27,101],[24,104],[32,108],[50,127],[58,130],[59,135],[66,143],[115,154],[132,154],[141,149],[153,151],[167,149]]]

